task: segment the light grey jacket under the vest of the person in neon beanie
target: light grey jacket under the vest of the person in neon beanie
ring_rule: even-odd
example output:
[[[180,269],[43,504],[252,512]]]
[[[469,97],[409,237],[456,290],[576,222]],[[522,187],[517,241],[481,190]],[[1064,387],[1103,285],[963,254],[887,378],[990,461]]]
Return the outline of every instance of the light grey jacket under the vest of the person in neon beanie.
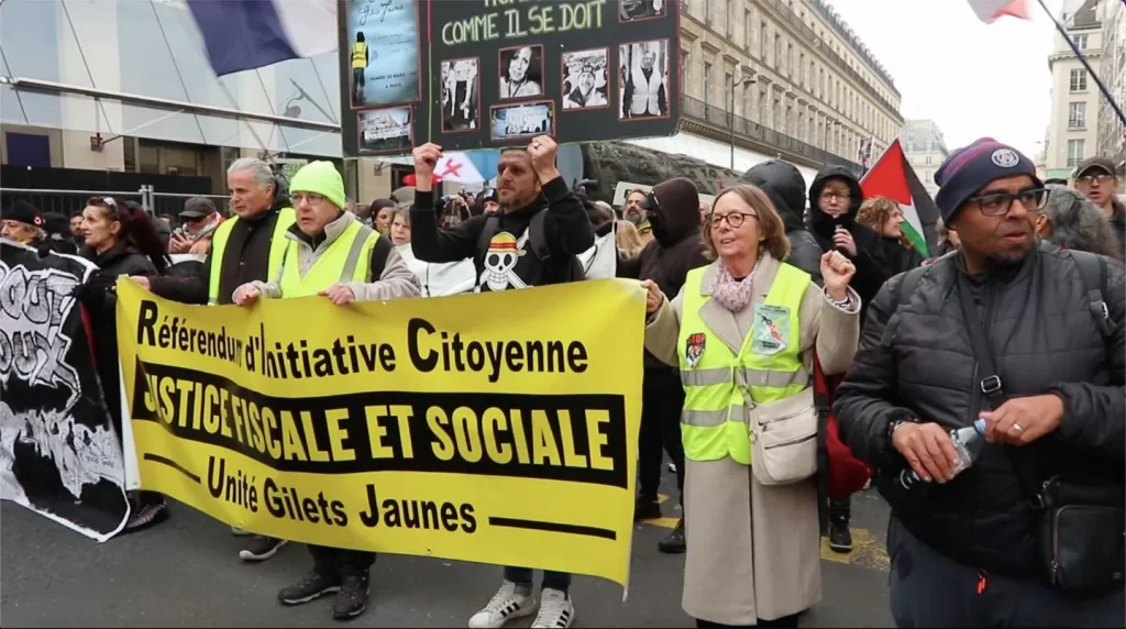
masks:
[[[297,225],[294,225],[286,233],[286,237],[297,243],[297,271],[302,277],[309,272],[313,263],[316,262],[329,246],[351,225],[352,222],[359,221],[350,212],[345,212],[339,218],[329,223],[324,226],[324,237],[323,240],[314,240],[302,233]],[[364,226],[364,230],[370,230],[368,226]],[[315,243],[315,244],[314,244]],[[381,251],[383,248],[390,248],[390,251]],[[351,288],[352,293],[356,295],[357,302],[378,302],[383,299],[402,299],[404,297],[418,297],[420,295],[419,280],[411,272],[410,267],[406,266],[406,261],[403,260],[399,251],[391,245],[391,239],[386,236],[379,236],[379,242],[376,243],[373,250],[373,263],[372,269],[377,267],[377,259],[383,259],[386,255],[386,261],[383,264],[383,272],[379,275],[378,279],[370,277],[370,271],[368,272],[367,281],[346,281],[342,282],[348,288]],[[292,264],[293,260],[286,259],[286,264]],[[283,267],[284,269],[284,267]],[[279,299],[284,297],[282,294],[280,278],[274,278],[272,281],[254,281],[252,282],[259,290],[262,291],[262,297],[270,299]],[[328,287],[325,287],[328,288]]]

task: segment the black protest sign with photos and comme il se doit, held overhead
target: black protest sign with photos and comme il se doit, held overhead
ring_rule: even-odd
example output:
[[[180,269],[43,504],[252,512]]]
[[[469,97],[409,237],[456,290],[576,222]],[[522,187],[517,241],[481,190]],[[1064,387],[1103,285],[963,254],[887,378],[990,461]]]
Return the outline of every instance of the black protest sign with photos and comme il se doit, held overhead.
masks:
[[[348,156],[677,131],[679,2],[339,2]]]

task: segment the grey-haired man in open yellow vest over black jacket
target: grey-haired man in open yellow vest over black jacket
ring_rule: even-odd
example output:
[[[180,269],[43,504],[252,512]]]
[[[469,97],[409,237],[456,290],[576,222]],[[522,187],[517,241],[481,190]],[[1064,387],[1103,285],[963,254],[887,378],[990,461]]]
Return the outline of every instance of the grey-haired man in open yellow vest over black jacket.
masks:
[[[274,177],[266,162],[243,158],[227,169],[226,186],[234,216],[215,230],[204,261],[205,272],[134,277],[137,284],[166,299],[215,306],[233,304],[234,289],[243,284],[278,273],[288,242],[286,230],[296,221],[285,182]],[[245,534],[241,530],[234,532]],[[254,536],[239,551],[239,557],[245,561],[263,561],[285,543],[283,539]]]

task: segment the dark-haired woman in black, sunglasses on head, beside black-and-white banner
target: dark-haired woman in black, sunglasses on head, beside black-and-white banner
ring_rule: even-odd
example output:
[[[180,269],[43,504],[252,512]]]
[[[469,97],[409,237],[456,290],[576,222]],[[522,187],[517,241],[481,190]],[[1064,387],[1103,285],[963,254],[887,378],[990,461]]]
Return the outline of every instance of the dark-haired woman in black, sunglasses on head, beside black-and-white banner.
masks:
[[[170,260],[153,221],[140,204],[113,197],[92,197],[82,210],[86,245],[79,254],[93,262],[98,270],[86,285],[79,287],[78,297],[90,315],[98,377],[118,435],[122,434],[122,396],[117,370],[117,295],[114,289],[118,277],[149,277],[168,269]],[[140,530],[168,519],[164,496],[160,494],[135,492],[131,501],[133,512],[125,525],[126,531]]]

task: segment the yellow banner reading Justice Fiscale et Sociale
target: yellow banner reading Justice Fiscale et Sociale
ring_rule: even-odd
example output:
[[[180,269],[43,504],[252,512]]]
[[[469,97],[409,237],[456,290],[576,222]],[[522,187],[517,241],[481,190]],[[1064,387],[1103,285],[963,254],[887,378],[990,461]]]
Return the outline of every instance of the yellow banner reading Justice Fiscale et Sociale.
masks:
[[[141,483],[253,532],[628,578],[645,295],[334,306],[117,284]]]

